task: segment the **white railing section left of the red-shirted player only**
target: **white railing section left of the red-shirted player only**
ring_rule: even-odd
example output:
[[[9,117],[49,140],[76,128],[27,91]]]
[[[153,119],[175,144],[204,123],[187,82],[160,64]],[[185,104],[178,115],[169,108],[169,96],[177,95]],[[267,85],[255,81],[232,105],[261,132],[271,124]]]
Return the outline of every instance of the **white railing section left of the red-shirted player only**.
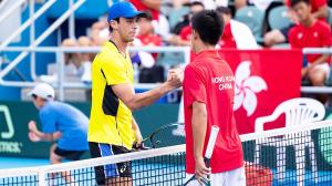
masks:
[[[90,48],[74,48],[74,46],[7,46],[1,48],[0,52],[39,52],[39,53],[55,53],[56,55],[56,63],[58,63],[58,75],[59,81],[56,84],[52,84],[54,87],[59,89],[59,100],[64,100],[64,89],[65,87],[75,87],[75,89],[91,89],[91,85],[84,83],[70,83],[64,82],[64,53],[97,53],[100,52],[101,48],[98,46],[90,46]],[[147,52],[183,52],[185,55],[184,64],[189,63],[190,61],[190,48],[188,46],[145,46],[145,48],[137,48],[131,46],[128,48],[129,51],[147,51]],[[15,63],[11,62],[8,66],[6,66],[2,71],[0,71],[0,85],[4,86],[18,86],[18,87],[31,87],[35,85],[35,82],[22,82],[22,81],[7,81],[4,76],[22,61],[15,61]],[[136,84],[135,87],[137,89],[153,89],[157,86],[155,83],[141,83]]]

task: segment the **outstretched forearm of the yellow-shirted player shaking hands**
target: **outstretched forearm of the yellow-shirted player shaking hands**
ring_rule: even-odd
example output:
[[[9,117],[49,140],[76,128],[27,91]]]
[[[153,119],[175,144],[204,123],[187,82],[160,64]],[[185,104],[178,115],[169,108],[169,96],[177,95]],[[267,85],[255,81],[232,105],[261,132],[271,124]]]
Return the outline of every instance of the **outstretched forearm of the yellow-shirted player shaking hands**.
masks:
[[[160,99],[163,95],[174,90],[168,86],[166,83],[160,85],[159,87],[153,89],[151,91],[146,91],[144,93],[135,94],[133,99],[128,102],[127,106],[132,110],[138,110],[144,106],[151,105]]]

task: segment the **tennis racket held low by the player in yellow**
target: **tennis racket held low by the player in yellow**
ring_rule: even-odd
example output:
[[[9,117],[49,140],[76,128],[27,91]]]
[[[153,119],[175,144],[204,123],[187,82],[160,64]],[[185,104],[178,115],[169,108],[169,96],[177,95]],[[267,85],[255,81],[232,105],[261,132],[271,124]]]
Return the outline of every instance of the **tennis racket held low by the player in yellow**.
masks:
[[[152,148],[159,148],[185,143],[185,125],[181,123],[172,123],[155,130],[142,141],[138,147],[137,145],[134,146],[138,149],[146,149],[145,145]]]

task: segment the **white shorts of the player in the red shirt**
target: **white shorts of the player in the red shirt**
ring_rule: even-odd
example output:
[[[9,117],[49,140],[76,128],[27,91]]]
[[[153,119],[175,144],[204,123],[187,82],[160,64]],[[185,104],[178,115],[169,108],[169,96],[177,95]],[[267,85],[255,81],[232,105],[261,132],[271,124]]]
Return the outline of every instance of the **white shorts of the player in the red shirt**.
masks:
[[[193,177],[194,174],[186,174],[186,182]],[[246,186],[245,167],[236,168],[234,170],[211,174],[211,186]],[[190,182],[188,186],[200,186],[197,179]]]

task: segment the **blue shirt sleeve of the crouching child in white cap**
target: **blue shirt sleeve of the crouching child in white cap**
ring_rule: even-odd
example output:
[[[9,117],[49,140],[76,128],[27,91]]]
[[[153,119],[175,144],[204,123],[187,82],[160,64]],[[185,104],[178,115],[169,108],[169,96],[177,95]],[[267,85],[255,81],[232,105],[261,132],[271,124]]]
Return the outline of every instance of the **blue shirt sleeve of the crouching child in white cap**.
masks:
[[[54,133],[58,131],[56,117],[54,113],[49,110],[44,110],[39,113],[39,116],[42,123],[43,133]]]

